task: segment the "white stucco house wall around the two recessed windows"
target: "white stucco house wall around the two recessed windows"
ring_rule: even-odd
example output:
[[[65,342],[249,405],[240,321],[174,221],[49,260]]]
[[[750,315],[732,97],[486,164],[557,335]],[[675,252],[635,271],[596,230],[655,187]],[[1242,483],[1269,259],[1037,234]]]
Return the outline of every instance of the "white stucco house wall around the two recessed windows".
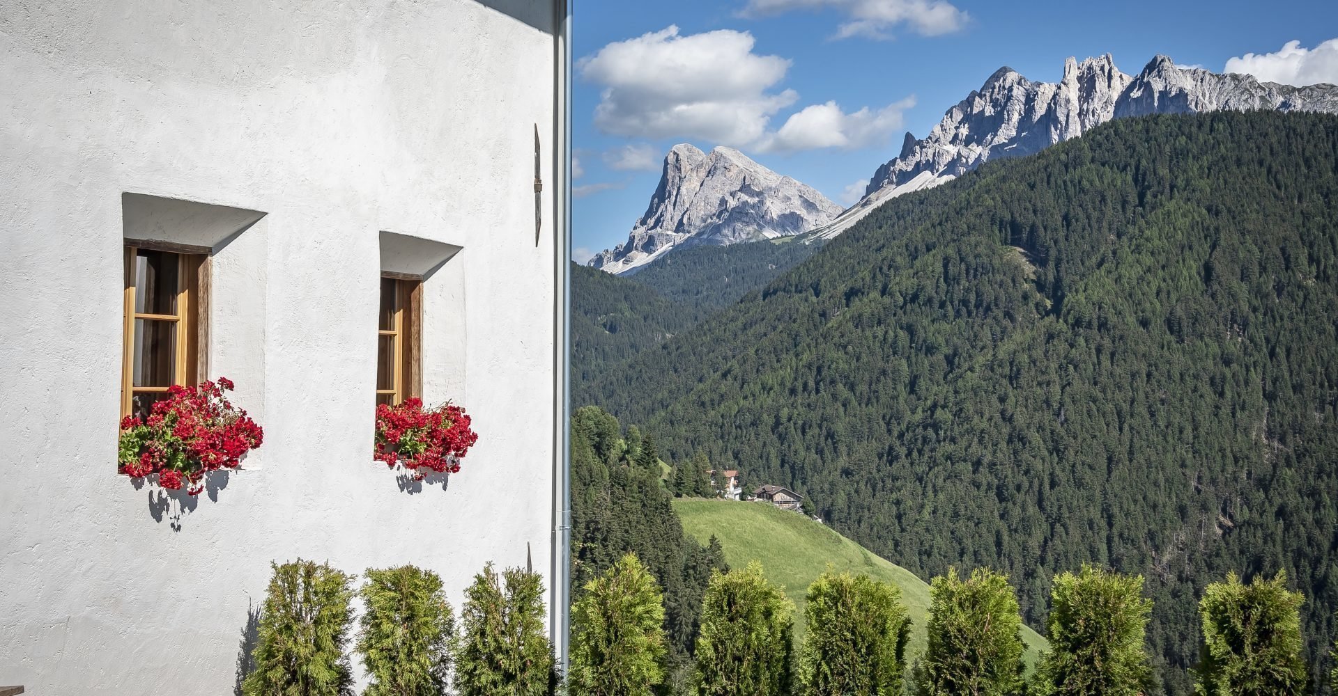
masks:
[[[413,562],[456,608],[547,572],[554,37],[502,4],[0,3],[0,685],[230,693],[272,560]],[[265,445],[175,525],[115,473],[123,192],[265,212],[210,345]],[[371,460],[381,231],[462,247],[424,299],[427,399],[479,433],[446,490]]]

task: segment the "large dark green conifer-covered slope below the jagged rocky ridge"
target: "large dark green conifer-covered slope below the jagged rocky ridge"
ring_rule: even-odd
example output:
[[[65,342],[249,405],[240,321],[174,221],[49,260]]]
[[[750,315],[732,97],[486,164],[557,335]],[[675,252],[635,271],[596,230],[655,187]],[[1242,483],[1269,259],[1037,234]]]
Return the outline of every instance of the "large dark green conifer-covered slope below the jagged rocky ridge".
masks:
[[[1116,120],[882,206],[578,399],[921,577],[1006,570],[1033,627],[1060,570],[1144,573],[1169,693],[1202,588],[1284,568],[1327,671],[1335,208],[1338,118]]]

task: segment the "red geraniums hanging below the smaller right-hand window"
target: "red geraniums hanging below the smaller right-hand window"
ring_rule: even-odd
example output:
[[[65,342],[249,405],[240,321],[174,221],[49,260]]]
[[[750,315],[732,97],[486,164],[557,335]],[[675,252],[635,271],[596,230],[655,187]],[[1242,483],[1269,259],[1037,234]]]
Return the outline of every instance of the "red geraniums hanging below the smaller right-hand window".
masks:
[[[446,402],[432,409],[423,399],[409,398],[395,406],[376,407],[376,442],[372,458],[393,469],[396,465],[423,481],[424,470],[456,473],[460,458],[479,440],[470,429],[464,409]]]

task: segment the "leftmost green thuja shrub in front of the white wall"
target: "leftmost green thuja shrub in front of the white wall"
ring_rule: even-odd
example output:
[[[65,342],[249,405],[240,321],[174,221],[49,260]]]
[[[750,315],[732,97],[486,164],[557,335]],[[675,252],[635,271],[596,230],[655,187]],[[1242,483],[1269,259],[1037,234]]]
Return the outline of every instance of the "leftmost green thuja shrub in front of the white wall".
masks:
[[[352,696],[353,677],[344,655],[353,623],[348,576],[301,558],[270,564],[260,617],[256,669],[242,683],[246,696]]]

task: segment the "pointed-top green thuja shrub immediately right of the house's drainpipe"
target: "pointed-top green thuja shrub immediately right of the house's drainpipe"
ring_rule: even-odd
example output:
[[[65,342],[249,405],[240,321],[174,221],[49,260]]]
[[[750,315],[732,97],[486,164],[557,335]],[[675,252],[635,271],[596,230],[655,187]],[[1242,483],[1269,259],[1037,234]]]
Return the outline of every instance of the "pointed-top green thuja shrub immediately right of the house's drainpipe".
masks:
[[[632,553],[586,584],[571,611],[571,692],[650,696],[665,676],[664,617],[660,585]]]

